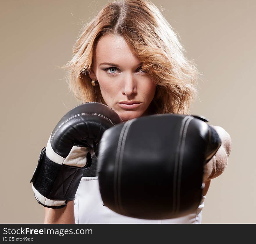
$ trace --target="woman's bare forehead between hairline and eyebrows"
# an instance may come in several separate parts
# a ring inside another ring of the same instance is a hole
[[[131,52],[128,44],[122,36],[111,34],[101,37],[95,47],[94,59],[97,63],[130,63],[139,62],[139,59]]]

